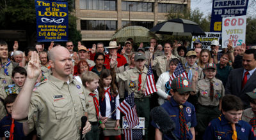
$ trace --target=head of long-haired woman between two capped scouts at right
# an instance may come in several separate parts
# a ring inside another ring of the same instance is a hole
[[[211,52],[207,49],[203,49],[199,55],[198,66],[200,66],[202,69],[204,69],[205,64],[212,63],[212,62],[213,62],[213,60],[211,57]]]

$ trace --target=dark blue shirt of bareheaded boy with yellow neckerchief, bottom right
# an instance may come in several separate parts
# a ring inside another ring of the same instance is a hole
[[[239,120],[236,123],[236,132],[237,139],[246,140],[246,139],[256,139],[253,134],[252,126]],[[232,140],[232,127],[224,115],[221,115],[219,118],[212,120],[209,123],[209,126],[206,128],[203,139],[231,139]]]

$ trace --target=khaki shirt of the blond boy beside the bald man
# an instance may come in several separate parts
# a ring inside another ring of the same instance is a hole
[[[97,115],[96,115],[96,109],[93,102],[93,97],[89,95],[90,92],[87,88],[85,88],[84,95],[85,95],[85,107],[88,113],[88,120],[90,122],[98,122]],[[93,94],[96,94],[97,99],[99,101],[99,94],[98,92],[93,92]],[[100,109],[99,109],[100,110]]]

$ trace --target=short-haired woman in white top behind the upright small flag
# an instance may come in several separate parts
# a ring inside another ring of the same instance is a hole
[[[171,99],[170,88],[171,85],[169,83],[170,76],[172,76],[173,71],[176,69],[179,64],[179,59],[172,59],[169,64],[170,71],[166,71],[162,73],[156,83],[157,94],[159,95],[158,104],[161,105],[165,100]]]

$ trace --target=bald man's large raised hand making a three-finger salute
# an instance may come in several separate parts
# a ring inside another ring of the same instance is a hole
[[[35,79],[38,78],[39,74],[41,73],[41,67],[40,67],[40,59],[38,56],[38,53],[32,52],[31,54],[31,60],[28,62],[28,68],[27,68],[27,78]]]

